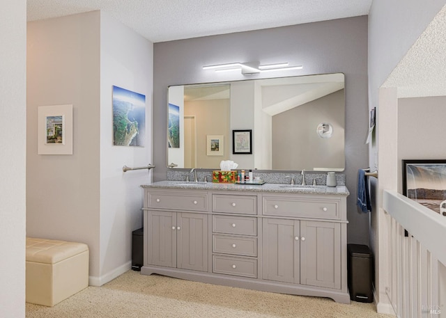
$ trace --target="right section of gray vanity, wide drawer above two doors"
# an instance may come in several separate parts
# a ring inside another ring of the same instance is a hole
[[[263,214],[283,217],[263,219],[263,279],[341,289],[342,202],[326,196],[263,196]]]

